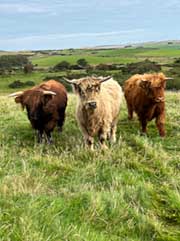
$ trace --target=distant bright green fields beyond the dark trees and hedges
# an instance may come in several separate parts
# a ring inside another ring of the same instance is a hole
[[[59,55],[58,55],[59,53]],[[41,67],[54,66],[63,60],[75,64],[80,58],[85,58],[89,64],[119,63],[126,64],[142,61],[145,58],[160,63],[172,62],[174,58],[180,57],[180,43],[168,44],[146,44],[119,49],[74,49],[57,51],[57,55],[34,55],[31,60],[33,64]]]

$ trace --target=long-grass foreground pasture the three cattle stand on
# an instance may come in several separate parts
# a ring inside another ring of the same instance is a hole
[[[69,95],[64,130],[38,145],[25,111],[0,96],[1,241],[180,240],[180,93],[166,93],[167,137],[148,137],[123,103],[107,151],[84,149]]]

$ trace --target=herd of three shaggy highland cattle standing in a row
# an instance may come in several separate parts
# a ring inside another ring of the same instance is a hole
[[[123,90],[128,118],[136,112],[142,133],[146,134],[147,122],[155,118],[161,137],[165,136],[165,96],[167,78],[163,73],[136,74],[125,81]],[[78,95],[76,117],[86,145],[93,150],[97,136],[102,148],[106,140],[116,141],[116,128],[123,99],[121,86],[111,77],[84,77],[65,79]],[[51,132],[57,126],[62,131],[67,106],[67,91],[55,80],[49,80],[29,90],[9,95],[26,108],[32,128],[37,130],[38,142],[43,136],[52,142]]]

